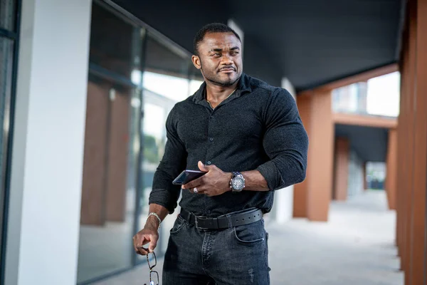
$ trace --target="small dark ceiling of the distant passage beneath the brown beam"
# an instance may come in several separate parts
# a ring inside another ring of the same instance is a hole
[[[348,138],[350,148],[366,162],[386,162],[389,130],[359,125],[335,125],[335,137]]]

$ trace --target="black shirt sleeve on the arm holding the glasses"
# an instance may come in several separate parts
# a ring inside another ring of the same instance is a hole
[[[166,122],[167,142],[164,148],[162,161],[154,173],[152,192],[149,195],[149,204],[159,204],[174,212],[181,192],[179,185],[172,181],[186,166],[186,149],[176,131],[176,112],[171,110]]]

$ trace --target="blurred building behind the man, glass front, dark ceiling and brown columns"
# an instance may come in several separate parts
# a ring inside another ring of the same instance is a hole
[[[406,284],[426,284],[426,0],[0,0],[0,284],[145,262],[132,236],[210,22],[241,35],[246,73],[292,93],[310,137],[307,179],[265,219],[327,222],[332,199],[384,191]]]

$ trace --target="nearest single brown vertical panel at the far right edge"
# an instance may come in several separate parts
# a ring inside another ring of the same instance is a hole
[[[416,7],[416,74],[414,81],[414,161],[408,284],[426,284],[426,173],[427,173],[427,1]]]

